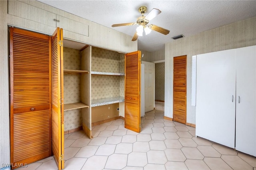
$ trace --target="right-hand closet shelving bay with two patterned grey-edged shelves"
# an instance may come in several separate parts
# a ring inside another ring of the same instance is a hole
[[[92,123],[124,116],[124,53],[92,47]]]

